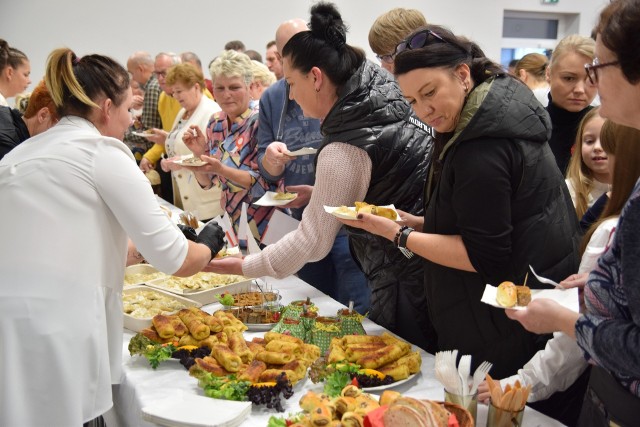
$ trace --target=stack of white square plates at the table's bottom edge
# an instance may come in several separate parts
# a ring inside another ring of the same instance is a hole
[[[251,402],[212,399],[181,390],[142,408],[146,421],[170,427],[235,427],[251,413]]]

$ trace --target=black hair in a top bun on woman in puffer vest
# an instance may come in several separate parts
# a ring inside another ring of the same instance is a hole
[[[339,91],[365,61],[364,51],[347,44],[347,26],[332,3],[311,7],[309,29],[291,37],[282,57],[301,73],[320,68]]]

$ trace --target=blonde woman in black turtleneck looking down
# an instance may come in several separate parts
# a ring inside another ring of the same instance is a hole
[[[547,71],[552,133],[549,146],[562,174],[567,173],[571,147],[578,126],[591,110],[596,87],[587,77],[584,64],[593,60],[595,42],[577,34],[565,37],[553,50]]]

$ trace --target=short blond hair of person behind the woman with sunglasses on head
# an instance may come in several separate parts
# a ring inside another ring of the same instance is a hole
[[[427,20],[419,10],[391,9],[373,22],[369,30],[369,46],[378,55],[392,54],[405,37],[426,25]]]

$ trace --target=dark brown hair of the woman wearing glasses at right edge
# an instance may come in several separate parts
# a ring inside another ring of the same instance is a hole
[[[640,81],[640,0],[612,0],[600,13],[594,32],[620,61],[631,84]]]

